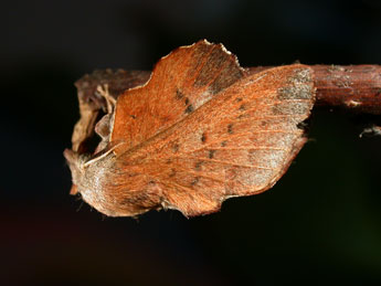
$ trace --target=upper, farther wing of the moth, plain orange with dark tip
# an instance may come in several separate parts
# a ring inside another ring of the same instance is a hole
[[[113,141],[123,152],[193,113],[242,78],[236,57],[221,45],[200,41],[179,47],[155,67],[148,84],[117,100]]]

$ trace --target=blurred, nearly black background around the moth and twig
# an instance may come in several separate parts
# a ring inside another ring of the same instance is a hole
[[[269,191],[187,220],[105,218],[68,195],[74,81],[222,42],[243,66],[381,62],[380,1],[8,1],[0,12],[0,284],[381,283],[381,139],[316,110]],[[82,206],[82,208],[81,208]]]

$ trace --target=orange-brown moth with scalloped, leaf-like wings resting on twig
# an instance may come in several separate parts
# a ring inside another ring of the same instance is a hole
[[[212,213],[261,193],[306,142],[315,102],[301,64],[250,74],[222,44],[199,41],[162,57],[147,83],[115,99],[96,124],[94,153],[66,149],[73,188],[110,216],[174,209]]]

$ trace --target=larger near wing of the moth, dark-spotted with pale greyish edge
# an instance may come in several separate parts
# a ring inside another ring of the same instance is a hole
[[[161,204],[187,216],[263,192],[306,141],[300,124],[315,100],[311,77],[299,64],[245,77],[119,161],[144,170]]]

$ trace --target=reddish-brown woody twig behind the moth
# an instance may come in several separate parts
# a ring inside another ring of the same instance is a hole
[[[248,74],[269,68],[257,66],[246,68]],[[311,65],[315,72],[316,105],[341,107],[359,113],[381,114],[381,66],[380,65]],[[110,94],[117,97],[125,89],[144,84],[149,72],[118,70],[96,71],[76,82],[82,102],[94,103],[94,108],[104,106],[96,94],[96,86],[108,84]]]

